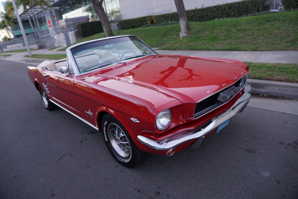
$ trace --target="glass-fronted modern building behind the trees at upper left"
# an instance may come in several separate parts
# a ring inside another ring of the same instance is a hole
[[[88,20],[97,20],[97,15],[94,10],[92,10],[92,5],[90,0],[51,0],[51,6],[46,7],[46,10],[43,10],[40,6],[35,7],[35,11],[37,13],[37,18],[39,22],[40,31],[53,32],[52,28],[56,31],[58,28],[58,32],[62,31],[63,28],[74,28],[74,25],[78,22],[78,18],[88,16]],[[108,15],[109,21],[117,22],[121,19],[120,15],[120,7],[118,0],[104,0],[104,8]],[[25,33],[33,33],[33,30],[30,26],[27,15],[24,13],[23,7],[18,8],[19,15],[22,19],[22,23],[25,29]],[[29,17],[31,19],[32,24],[34,21],[32,19],[32,14],[28,12]],[[33,13],[34,14],[34,13]],[[74,20],[64,20],[63,26],[60,27],[59,21],[62,19],[70,19],[74,18]],[[68,23],[65,23],[68,21]],[[70,22],[72,21],[72,22]],[[86,20],[79,20],[80,22]],[[66,25],[65,25],[66,24]],[[35,25],[34,25],[35,26]],[[61,29],[59,29],[59,27]],[[34,27],[36,31],[36,27]],[[19,25],[16,24],[16,27],[12,27],[12,31],[16,37],[21,35],[21,31]],[[57,31],[56,31],[57,33]]]

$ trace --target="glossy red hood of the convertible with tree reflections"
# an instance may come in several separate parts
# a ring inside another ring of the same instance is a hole
[[[245,66],[236,60],[156,55],[107,67],[93,75],[156,90],[183,103],[196,103],[244,76]]]

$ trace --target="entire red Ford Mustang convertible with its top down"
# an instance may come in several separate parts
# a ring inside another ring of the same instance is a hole
[[[250,99],[236,60],[159,55],[133,35],[69,47],[67,59],[28,67],[48,110],[57,106],[103,132],[125,167],[171,156],[218,133]]]

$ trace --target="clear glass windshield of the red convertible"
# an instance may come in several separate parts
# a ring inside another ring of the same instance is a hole
[[[156,55],[134,36],[111,38],[79,45],[71,49],[80,73],[86,73],[125,60]]]

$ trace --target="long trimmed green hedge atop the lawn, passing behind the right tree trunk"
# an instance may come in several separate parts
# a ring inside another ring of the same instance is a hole
[[[199,9],[186,10],[188,20],[194,22],[210,21],[217,18],[238,17],[264,11],[265,0],[243,0],[238,2],[214,5]],[[160,24],[169,21],[179,21],[178,13],[171,12],[154,16],[144,16],[118,21],[121,29],[131,29],[148,24]]]

